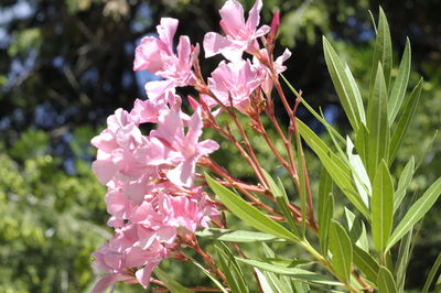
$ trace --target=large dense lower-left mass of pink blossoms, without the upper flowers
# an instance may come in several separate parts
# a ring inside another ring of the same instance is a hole
[[[95,292],[116,281],[147,286],[176,238],[207,227],[218,215],[194,185],[197,160],[218,148],[212,140],[198,141],[201,110],[185,121],[180,112],[163,108],[154,118],[157,129],[143,135],[139,126],[151,120],[148,106],[137,100],[130,112],[116,110],[107,129],[92,140],[98,148],[93,170],[108,187],[108,225],[115,228],[115,237],[94,253],[94,267],[108,273]]]

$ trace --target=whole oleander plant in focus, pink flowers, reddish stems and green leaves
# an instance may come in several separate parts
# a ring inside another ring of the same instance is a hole
[[[93,292],[117,282],[158,292],[404,292],[418,225],[441,194],[441,178],[421,194],[409,192],[423,156],[409,153],[392,175],[422,90],[422,79],[408,90],[409,40],[392,74],[379,9],[362,95],[323,37],[351,124],[340,133],[283,77],[291,53],[275,54],[280,17],[260,25],[261,9],[257,0],[245,19],[243,6],[227,0],[219,10],[223,34],[206,33],[202,46],[185,35],[175,44],[179,21],[163,18],[158,35],[136,48],[133,69],[160,78],[146,84],[148,99],[117,109],[92,140],[93,171],[107,186],[107,224],[115,229],[93,253],[101,274]],[[212,57],[220,62],[204,75],[201,64]],[[327,140],[298,118],[299,107],[323,124]],[[225,143],[252,176],[238,178],[216,162]],[[256,150],[263,146],[273,166],[262,164]],[[320,174],[311,174],[306,148]],[[209,281],[185,287],[161,269],[165,259],[190,263]],[[438,257],[421,292],[441,290],[440,265]]]

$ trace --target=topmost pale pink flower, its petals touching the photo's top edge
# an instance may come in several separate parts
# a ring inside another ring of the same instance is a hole
[[[220,26],[226,36],[209,32],[204,37],[205,57],[216,54],[223,54],[229,61],[239,59],[244,51],[258,50],[256,39],[267,34],[270,31],[268,25],[259,24],[259,13],[262,8],[261,0],[257,0],[245,22],[244,8],[237,0],[228,0],[219,10],[222,20]]]

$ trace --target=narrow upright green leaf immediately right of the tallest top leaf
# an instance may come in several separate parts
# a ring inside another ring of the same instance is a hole
[[[392,90],[390,93],[389,102],[387,108],[389,109],[389,124],[394,123],[394,120],[401,108],[401,104],[405,99],[407,85],[409,83],[410,74],[410,42],[406,40],[405,52],[402,53],[401,63],[398,69],[397,78],[395,79]]]

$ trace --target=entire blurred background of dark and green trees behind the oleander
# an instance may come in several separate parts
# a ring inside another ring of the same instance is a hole
[[[144,98],[143,84],[154,76],[133,73],[133,51],[142,36],[155,33],[160,18],[180,19],[178,34],[202,43],[205,32],[219,30],[217,9],[223,2],[1,1],[1,292],[78,292],[90,287],[89,254],[106,241],[110,230],[105,226],[105,188],[89,171],[94,158],[89,140],[116,108],[128,109],[136,98]],[[250,8],[254,0],[243,2]],[[441,2],[263,0],[263,4],[266,23],[276,10],[281,11],[279,50],[281,53],[282,46],[288,46],[293,53],[286,76],[341,129],[347,121],[325,68],[321,36],[325,34],[337,46],[359,86],[368,85],[375,36],[368,10],[376,14],[381,4],[389,19],[396,64],[408,35],[412,67],[426,80],[412,138],[398,155],[397,170],[409,153],[420,153],[423,165],[412,191],[432,182],[441,170],[441,160],[437,160],[441,158],[440,140],[423,154],[441,127]],[[217,61],[204,61],[203,70],[209,73]],[[415,76],[411,79],[416,83]],[[323,130],[304,109],[299,115],[318,132]],[[228,148],[223,145],[223,152],[230,153]],[[269,160],[268,150],[259,151],[262,160]],[[249,175],[241,162],[220,163],[238,176]],[[266,165],[272,163],[267,161]],[[313,173],[314,164],[311,167]],[[439,252],[440,215],[438,204],[417,238],[408,289],[421,287]],[[176,275],[185,272],[171,270]],[[194,273],[195,278],[201,275]]]

